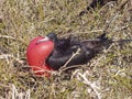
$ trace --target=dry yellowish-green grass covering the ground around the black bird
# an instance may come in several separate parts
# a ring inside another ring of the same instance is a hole
[[[73,33],[88,38],[107,29],[110,38],[132,38],[131,0],[108,3],[78,16],[87,3],[88,0],[0,1],[1,99],[132,99],[132,43],[112,44],[72,72],[70,79],[64,73],[38,78],[26,65],[31,38],[52,31],[59,36]]]

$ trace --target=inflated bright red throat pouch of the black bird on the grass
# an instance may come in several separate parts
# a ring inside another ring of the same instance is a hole
[[[53,70],[45,64],[45,59],[54,50],[52,41],[38,42],[44,37],[38,36],[33,38],[26,50],[26,61],[36,76],[51,77],[50,70]]]

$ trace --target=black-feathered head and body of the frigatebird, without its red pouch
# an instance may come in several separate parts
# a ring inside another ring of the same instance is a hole
[[[54,42],[55,47],[46,58],[53,69],[58,70],[79,50],[79,53],[66,66],[87,64],[92,57],[108,47],[112,42],[102,34],[95,40],[77,40],[74,37],[57,38],[55,33],[47,34],[47,40]]]

